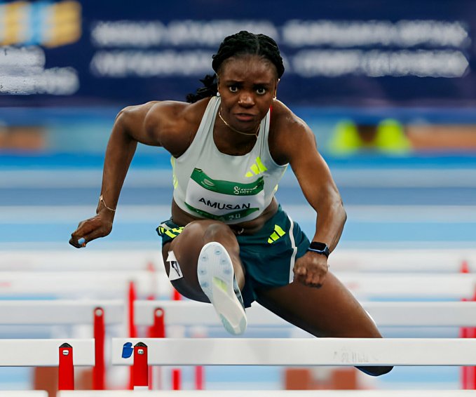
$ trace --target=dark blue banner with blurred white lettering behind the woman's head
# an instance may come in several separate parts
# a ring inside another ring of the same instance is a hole
[[[476,104],[472,0],[60,0],[0,3],[0,106],[184,100],[243,29],[278,42],[288,104]]]

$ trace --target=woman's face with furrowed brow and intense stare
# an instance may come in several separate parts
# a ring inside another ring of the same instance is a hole
[[[278,73],[259,55],[225,60],[218,73],[222,116],[233,128],[254,132],[276,96]]]

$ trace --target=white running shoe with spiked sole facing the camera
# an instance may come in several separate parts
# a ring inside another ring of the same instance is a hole
[[[197,274],[200,287],[215,307],[225,329],[233,335],[243,334],[247,325],[243,297],[231,258],[222,244],[213,241],[203,245]]]

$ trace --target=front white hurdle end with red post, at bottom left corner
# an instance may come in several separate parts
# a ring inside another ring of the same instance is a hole
[[[58,389],[74,389],[74,367],[95,364],[94,339],[0,339],[0,367],[58,367]]]

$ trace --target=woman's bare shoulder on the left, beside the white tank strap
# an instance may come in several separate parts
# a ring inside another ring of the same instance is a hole
[[[200,125],[208,100],[190,104],[179,101],[154,101],[126,107],[123,118],[144,144],[164,147],[179,156],[189,147]]]

